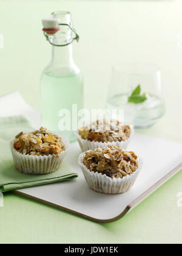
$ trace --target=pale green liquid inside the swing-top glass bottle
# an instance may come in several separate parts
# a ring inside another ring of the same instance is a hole
[[[59,130],[59,110],[70,111],[72,129],[72,104],[77,104],[78,111],[83,108],[83,78],[81,73],[70,76],[53,76],[45,72],[41,77],[41,123],[54,132],[61,132],[76,141],[73,130]]]

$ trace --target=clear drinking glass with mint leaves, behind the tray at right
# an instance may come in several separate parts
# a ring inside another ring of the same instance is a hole
[[[138,90],[133,93],[136,87]],[[124,122],[132,124],[135,129],[145,129],[155,124],[165,113],[160,68],[149,63],[113,66],[107,108],[123,109]]]

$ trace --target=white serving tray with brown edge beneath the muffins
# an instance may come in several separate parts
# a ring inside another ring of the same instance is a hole
[[[78,143],[71,144],[66,157],[73,171],[78,172],[77,179],[25,188],[15,193],[93,221],[115,221],[126,215],[182,168],[182,144],[135,134],[129,149],[141,155],[144,166],[134,187],[127,193],[106,195],[90,190],[78,166],[78,155],[81,152]]]

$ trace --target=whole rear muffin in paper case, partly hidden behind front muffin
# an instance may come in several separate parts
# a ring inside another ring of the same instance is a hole
[[[120,121],[115,120],[97,120],[75,132],[83,152],[93,148],[104,148],[111,144],[126,149],[133,134],[132,126],[123,126]]]

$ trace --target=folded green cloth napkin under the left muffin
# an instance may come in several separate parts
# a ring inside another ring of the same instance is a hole
[[[23,116],[0,118],[0,192],[34,187],[78,177],[66,162],[52,174],[32,176],[17,171],[10,151],[10,141],[19,132],[30,132],[33,128]]]

